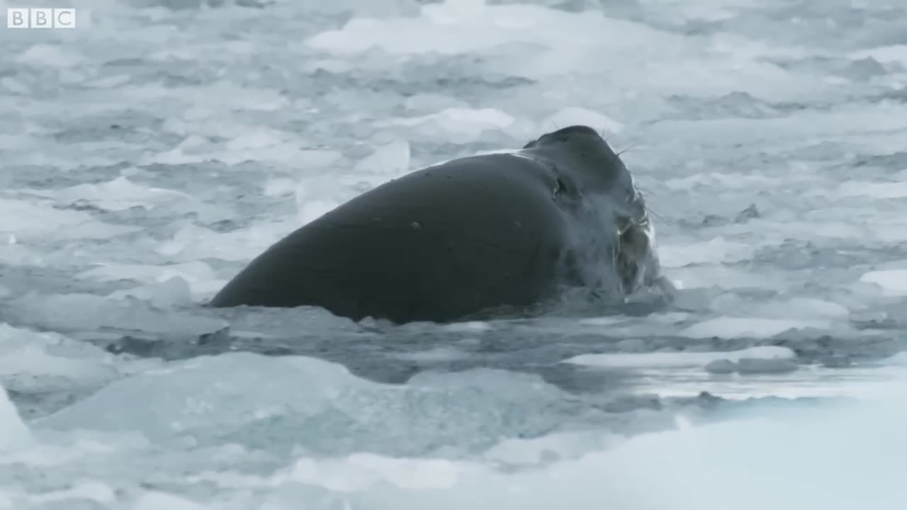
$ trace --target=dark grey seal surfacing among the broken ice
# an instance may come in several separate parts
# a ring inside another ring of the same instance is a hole
[[[657,277],[642,195],[599,133],[577,125],[366,191],[268,248],[210,306],[451,322],[566,289],[619,301]]]

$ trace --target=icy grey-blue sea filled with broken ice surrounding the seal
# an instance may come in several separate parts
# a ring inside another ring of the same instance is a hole
[[[72,5],[0,30],[0,508],[907,506],[902,1]],[[629,148],[669,309],[200,307],[571,123]]]

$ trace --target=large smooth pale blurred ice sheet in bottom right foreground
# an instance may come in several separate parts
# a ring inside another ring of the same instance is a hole
[[[427,473],[440,472],[438,481],[445,484],[418,485],[420,490],[405,482],[397,484],[400,475],[391,467],[393,461],[385,464],[393,476],[363,474],[360,465],[338,459],[317,463],[326,469],[308,469],[307,479],[324,486],[327,482],[319,475],[330,476],[336,484],[332,486],[342,486],[352,500],[351,508],[380,498],[386,508],[434,510],[543,510],[558,505],[850,510],[853,502],[873,510],[901,510],[907,500],[899,470],[907,455],[907,444],[901,439],[907,426],[902,408],[901,401],[892,398],[884,406],[824,407],[799,414],[769,409],[760,419],[707,427],[686,427],[687,420],[681,419],[677,430],[634,436],[535,469],[499,470],[466,461],[450,461],[452,466],[445,468],[421,459],[398,462],[412,466],[400,470],[404,473],[420,465]],[[848,439],[842,441],[843,437]],[[355,476],[355,482],[344,478],[345,472]],[[386,483],[370,483],[375,478]],[[640,483],[642,479],[647,483]],[[298,480],[286,483],[295,485]],[[287,497],[287,505],[293,503]]]

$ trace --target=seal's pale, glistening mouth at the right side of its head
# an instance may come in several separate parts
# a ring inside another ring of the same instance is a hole
[[[655,239],[655,229],[649,213],[645,207],[641,210],[637,216],[620,217],[615,232],[614,269],[620,277],[621,290],[625,295],[643,285]]]

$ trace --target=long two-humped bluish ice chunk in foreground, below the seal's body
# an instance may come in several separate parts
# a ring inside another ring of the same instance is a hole
[[[40,425],[134,431],[157,444],[192,436],[207,445],[278,450],[289,441],[320,452],[346,453],[351,444],[424,452],[547,433],[563,425],[552,405],[584,409],[593,419],[604,412],[564,401],[561,390],[538,376],[493,370],[420,376],[405,386],[385,385],[319,359],[229,353],[119,379]]]

